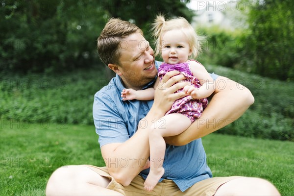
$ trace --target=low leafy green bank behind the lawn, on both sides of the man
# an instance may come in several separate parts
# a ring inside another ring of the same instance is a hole
[[[221,66],[209,72],[231,78],[249,88],[255,103],[236,122],[219,133],[294,141],[294,85]],[[106,67],[64,74],[0,74],[0,119],[27,123],[93,124],[94,94],[108,83]],[[229,100],[228,100],[229,104]]]

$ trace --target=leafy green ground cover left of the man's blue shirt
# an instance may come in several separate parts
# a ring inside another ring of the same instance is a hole
[[[20,122],[93,124],[94,94],[105,72],[75,70],[67,74],[28,74],[1,79],[1,119]]]

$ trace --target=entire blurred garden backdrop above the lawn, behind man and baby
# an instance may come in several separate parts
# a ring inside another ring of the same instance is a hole
[[[219,133],[293,141],[294,1],[203,2],[209,1],[2,0],[0,118],[92,124],[93,95],[113,76],[97,53],[105,23],[130,21],[153,41],[149,25],[162,13],[189,20],[203,49],[197,60],[255,97],[245,115]],[[205,11],[221,15],[206,22]],[[220,17],[230,24],[211,23]]]

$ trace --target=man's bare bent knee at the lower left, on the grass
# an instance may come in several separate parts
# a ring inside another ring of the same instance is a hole
[[[47,196],[122,196],[106,189],[110,180],[85,166],[65,166],[57,169],[49,178]]]

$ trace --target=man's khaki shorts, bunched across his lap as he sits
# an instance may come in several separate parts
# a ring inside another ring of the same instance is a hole
[[[140,175],[137,175],[129,186],[124,187],[109,175],[106,167],[96,167],[91,165],[84,166],[97,172],[99,175],[108,178],[110,183],[106,187],[107,189],[117,191],[125,196],[213,196],[221,185],[240,177],[230,176],[208,178],[197,182],[185,192],[181,192],[172,180],[164,179],[154,187],[153,191],[149,192],[144,189],[145,180]]]

